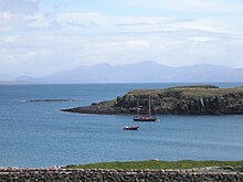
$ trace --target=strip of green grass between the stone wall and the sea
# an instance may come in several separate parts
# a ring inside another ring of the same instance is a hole
[[[243,161],[130,161],[130,162],[105,162],[81,165],[67,165],[68,169],[192,169],[204,167],[237,167],[243,165]]]

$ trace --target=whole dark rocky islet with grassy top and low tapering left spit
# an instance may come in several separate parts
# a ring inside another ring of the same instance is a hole
[[[62,109],[67,113],[97,115],[242,115],[243,86],[219,88],[214,85],[178,86],[163,89],[135,89],[114,100]]]

